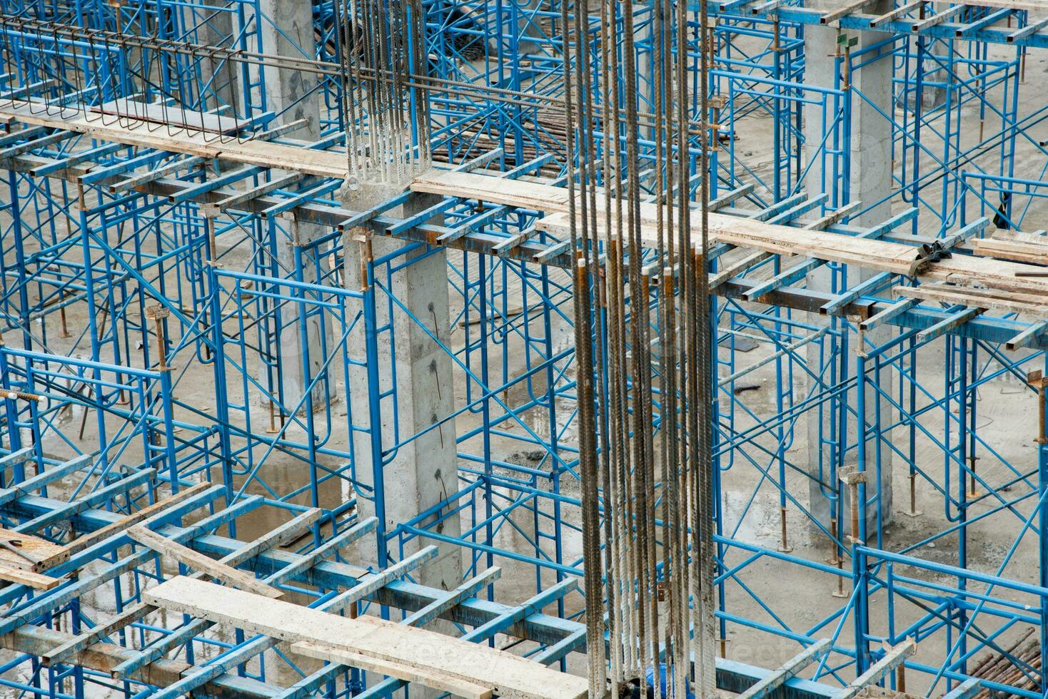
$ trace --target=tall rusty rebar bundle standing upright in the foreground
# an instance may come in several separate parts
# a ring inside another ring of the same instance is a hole
[[[708,129],[700,126],[697,134],[701,219],[693,235],[691,154],[696,144],[689,113],[686,7],[659,0],[653,9],[651,176],[658,245],[655,257],[645,260],[637,70],[632,58],[619,65],[612,48],[620,19],[623,55],[635,55],[633,4],[626,0],[620,7],[612,2],[601,7],[597,85],[590,71],[571,70],[572,63],[581,66],[588,60],[590,12],[581,3],[562,5],[565,112],[573,127],[568,129],[568,152],[575,154],[568,163],[568,188],[577,260],[574,311],[590,695],[604,695],[610,667],[616,694],[625,682],[639,683],[648,674],[656,684],[664,681],[668,695],[685,697],[695,686],[705,697],[716,686],[704,177]],[[706,25],[702,5],[700,125],[707,122]],[[597,133],[615,135],[599,149],[599,167]],[[597,186],[598,172],[603,187]],[[652,352],[653,324],[658,329],[657,356]],[[599,640],[606,631],[609,658]],[[665,680],[660,680],[663,673]]]

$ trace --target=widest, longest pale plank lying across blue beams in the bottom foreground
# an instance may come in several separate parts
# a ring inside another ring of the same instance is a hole
[[[158,607],[292,642],[315,641],[379,660],[489,684],[508,699],[582,699],[586,678],[460,638],[372,616],[347,618],[179,577],[144,592]]]

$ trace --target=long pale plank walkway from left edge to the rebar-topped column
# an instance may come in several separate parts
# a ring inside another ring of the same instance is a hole
[[[35,113],[35,111],[37,113]],[[345,179],[347,175],[346,156],[297,145],[284,145],[269,141],[253,140],[243,143],[236,139],[219,142],[214,135],[193,129],[156,129],[156,125],[141,119],[121,118],[115,123],[103,123],[101,116],[86,117],[73,109],[47,113],[42,103],[14,100],[0,108],[0,118],[14,117],[24,123],[65,129],[88,134],[114,143],[156,149],[170,153],[187,153],[203,158],[220,158],[231,162],[241,162],[263,167],[289,170],[321,177]]]

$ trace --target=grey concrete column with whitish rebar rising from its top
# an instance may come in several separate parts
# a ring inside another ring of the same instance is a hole
[[[363,211],[377,206],[400,194],[402,189],[388,185],[364,184],[358,189],[343,191],[343,205],[355,211]],[[390,211],[391,216],[408,217],[418,212],[439,201],[433,196],[415,196],[399,210]],[[345,284],[347,289],[363,288],[361,261],[362,243],[352,240],[350,235],[345,245]],[[379,257],[394,252],[405,244],[400,241],[383,236],[372,236],[371,254]],[[393,294],[411,312],[414,319],[402,309],[393,306],[392,317],[386,293],[376,290],[375,309],[376,325],[381,328],[392,323],[392,344],[388,335],[378,340],[378,386],[370,385],[366,366],[350,366],[348,382],[350,386],[350,406],[353,422],[356,425],[370,423],[370,397],[376,391],[388,391],[394,388],[395,380],[398,401],[398,422],[395,422],[392,399],[381,403],[381,420],[379,425],[371,428],[381,438],[384,450],[390,450],[395,444],[395,431],[399,431],[401,439],[439,423],[455,409],[455,388],[452,376],[452,359],[434,341],[449,342],[449,297],[447,297],[447,256],[440,251],[424,255],[424,250],[411,252],[407,257],[398,257],[397,265],[403,265],[408,260],[415,262],[393,273],[392,278],[379,277],[379,281],[388,285]],[[357,312],[363,313],[363,301],[351,299],[350,317]],[[421,323],[421,324],[420,324]],[[424,325],[424,329],[422,328]],[[349,340],[349,355],[354,361],[367,360],[365,329],[354,331]],[[396,371],[389,353],[393,352]],[[353,451],[356,461],[356,476],[363,482],[373,486],[372,435],[366,432],[352,433]],[[458,467],[456,456],[456,431],[454,421],[441,424],[421,436],[405,444],[397,449],[395,456],[383,469],[386,497],[385,525],[387,531],[393,529],[398,523],[415,518],[418,514],[435,506],[442,500],[458,492]],[[362,500],[359,505],[362,517],[374,514],[374,505]],[[435,520],[437,517],[434,516]],[[458,517],[452,517],[435,529],[450,537],[461,534]],[[454,588],[462,579],[462,550],[458,546],[441,544],[435,541],[412,541],[405,555],[410,555],[428,544],[440,547],[439,556],[416,574],[419,583],[442,589]],[[391,549],[392,556],[399,557],[398,550]],[[439,624],[439,623],[438,623]]]

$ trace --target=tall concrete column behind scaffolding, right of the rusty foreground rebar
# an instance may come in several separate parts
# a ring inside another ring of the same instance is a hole
[[[818,9],[833,9],[837,6],[837,3],[833,0],[817,0],[809,3],[809,6],[813,6]],[[872,7],[868,8],[867,12],[877,14],[889,12],[891,8],[891,0],[880,0]],[[856,32],[849,33],[854,35]],[[857,35],[858,44],[852,48],[852,51],[858,51],[864,47],[876,44],[885,37],[885,35],[875,31],[857,32]],[[805,50],[807,54],[805,61],[804,80],[806,85],[827,88],[834,87],[834,59],[832,57],[836,53],[836,28],[811,25],[805,27]],[[873,63],[866,63],[861,69],[855,71],[850,76],[853,88],[850,94],[845,96],[846,99],[851,99],[852,110],[852,133],[850,144],[852,154],[849,193],[850,201],[863,202],[864,208],[880,201],[881,199],[885,199],[892,191],[892,125],[881,114],[882,112],[888,116],[892,116],[894,113],[894,105],[892,102],[892,60],[888,55],[887,49],[881,50],[886,58]],[[870,103],[873,104],[871,105]],[[874,108],[873,105],[875,105],[876,108]],[[830,109],[832,110],[832,104]],[[807,191],[810,196],[814,197],[823,194],[824,188],[827,191],[831,191],[836,183],[831,180],[833,177],[832,170],[826,174],[827,178],[825,187],[823,183],[823,162],[822,153],[820,152],[820,146],[825,136],[823,131],[823,110],[817,105],[808,105],[805,107],[805,157],[808,162],[813,163],[807,176]],[[826,116],[828,117],[826,122],[832,122],[833,115],[829,114]],[[857,226],[872,226],[890,217],[891,204],[890,202],[883,202],[873,206],[861,216],[852,218],[850,223]],[[870,276],[873,276],[872,272],[864,271],[858,267],[848,268],[848,280],[850,285],[860,283]],[[808,274],[807,283],[808,288],[813,291],[829,292],[832,290],[830,273],[825,267]],[[828,319],[816,314],[811,314],[809,316],[809,322],[827,324]],[[886,335],[883,331],[875,331],[868,333],[868,337],[873,342],[878,342],[887,339],[888,335]],[[858,339],[853,336],[853,345],[857,342]],[[848,358],[850,367],[849,370],[854,371],[856,360],[853,354],[854,347],[851,347],[849,352],[852,353],[852,355]],[[808,345],[807,357],[812,370],[818,373],[820,347],[817,346],[817,343],[811,343]],[[829,374],[825,373],[823,376],[828,377]],[[893,377],[893,371],[889,371],[887,369],[881,370],[880,385],[885,390],[892,390],[894,386]],[[866,422],[868,425],[872,425],[874,423],[875,413],[878,408],[877,401],[879,400],[880,424],[890,425],[894,422],[894,411],[892,410],[888,400],[881,398],[875,386],[872,385],[872,375],[870,376],[870,385],[866,391]],[[854,408],[855,403],[854,397],[852,397],[852,400],[849,402],[850,407]],[[820,465],[822,465],[822,473],[825,477],[826,474],[829,473],[832,451],[829,446],[820,445],[818,443],[820,424],[817,412],[812,411],[810,415],[811,416],[808,421],[809,473],[812,473],[813,475],[818,474]],[[856,420],[854,416],[849,416],[848,422],[848,434],[845,439],[850,444],[854,444],[857,435]],[[822,427],[823,434],[828,436],[831,428],[829,410],[825,411]],[[876,456],[874,448],[875,441],[869,441],[866,445],[865,460],[866,468],[871,474],[875,468],[874,459]],[[867,484],[867,498],[873,497],[879,488],[882,502],[883,522],[885,524],[888,524],[892,521],[893,514],[892,452],[888,447],[883,447],[880,450],[880,483],[875,483],[871,475],[871,479],[868,480]],[[857,450],[852,449],[852,451],[849,452],[845,458],[844,468],[846,470],[854,469],[857,460]],[[827,482],[825,487],[827,490],[835,488],[842,494],[845,503],[845,521],[842,525],[842,531],[845,534],[848,534],[848,520],[851,517],[851,510],[848,502],[847,488],[843,487],[839,481],[837,483]],[[832,514],[830,501],[823,495],[821,483],[816,478],[812,478],[809,481],[809,506],[811,514],[824,526],[829,528],[830,517]],[[870,536],[873,536],[875,532],[875,509],[871,508],[868,511],[867,516],[867,532]]]

